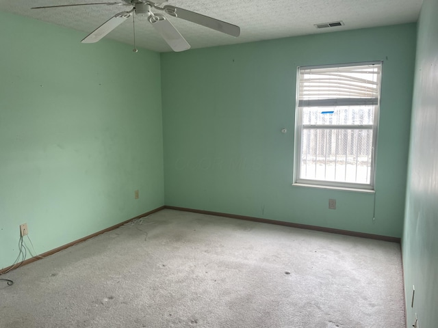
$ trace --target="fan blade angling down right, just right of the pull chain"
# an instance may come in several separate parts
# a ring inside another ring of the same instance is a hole
[[[154,14],[149,16],[149,23],[155,28],[155,30],[164,38],[164,41],[172,48],[173,51],[185,51],[190,49],[190,44],[185,41],[185,38],[181,36],[181,33],[170,21],[160,14]]]

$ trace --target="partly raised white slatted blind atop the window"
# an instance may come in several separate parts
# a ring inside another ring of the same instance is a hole
[[[378,105],[381,64],[300,68],[299,107]]]

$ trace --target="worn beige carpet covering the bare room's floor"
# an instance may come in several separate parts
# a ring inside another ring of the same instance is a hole
[[[2,277],[2,328],[404,327],[400,245],[175,210]]]

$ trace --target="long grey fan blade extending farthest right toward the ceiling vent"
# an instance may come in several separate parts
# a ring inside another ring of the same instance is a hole
[[[190,10],[177,8],[173,5],[165,5],[163,9],[164,12],[166,12],[166,14],[169,14],[170,16],[182,18],[192,23],[208,27],[209,29],[216,29],[216,31],[227,33],[230,36],[240,36],[240,27],[227,22],[223,22],[222,20],[201,15],[196,12],[191,12]]]

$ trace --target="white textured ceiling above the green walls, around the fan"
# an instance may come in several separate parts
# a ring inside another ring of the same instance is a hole
[[[31,10],[31,7],[71,3],[117,2],[121,0],[0,0],[0,10],[83,31],[83,36],[118,12],[130,8],[119,5],[86,5],[67,8]],[[200,14],[239,25],[238,38],[228,36],[179,18],[169,20],[177,27],[192,49],[222,44],[285,38],[383,25],[415,22],[422,0],[169,0],[175,5]],[[313,24],[343,20],[345,25],[316,29]],[[105,38],[133,43],[132,19],[118,26]],[[78,40],[80,42],[80,40]],[[170,51],[145,18],[136,18],[137,46],[153,51]]]

